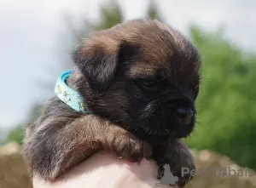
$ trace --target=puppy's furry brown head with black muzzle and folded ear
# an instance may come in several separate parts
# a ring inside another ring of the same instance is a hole
[[[90,111],[145,134],[188,136],[201,65],[196,48],[157,20],[130,20],[84,39],[73,54]]]

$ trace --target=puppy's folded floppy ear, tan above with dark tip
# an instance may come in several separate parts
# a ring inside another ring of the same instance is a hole
[[[103,92],[117,77],[119,67],[124,66],[137,53],[138,48],[129,43],[86,39],[74,52],[73,59],[90,88]]]

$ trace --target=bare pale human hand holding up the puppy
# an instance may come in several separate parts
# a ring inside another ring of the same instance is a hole
[[[54,182],[33,178],[34,188],[177,188],[160,185],[156,179],[156,162],[143,159],[140,164],[100,151],[93,157],[70,169]]]

